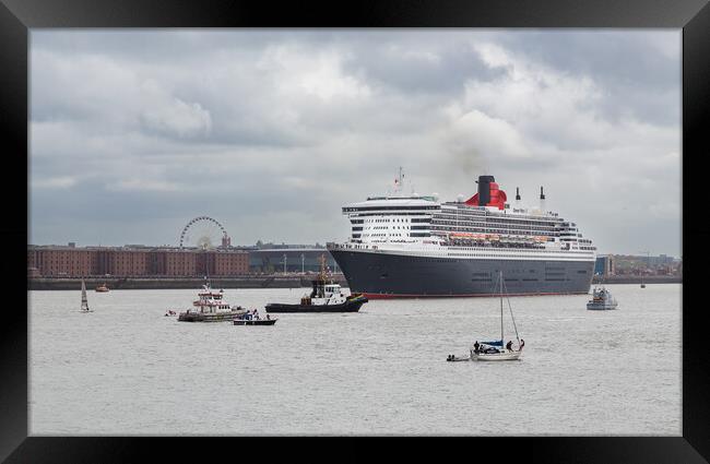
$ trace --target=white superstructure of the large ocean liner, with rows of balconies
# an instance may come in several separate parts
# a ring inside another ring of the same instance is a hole
[[[431,197],[370,198],[343,207],[352,250],[449,257],[593,260],[596,248],[577,224],[529,209],[439,203]],[[478,254],[473,253],[476,251]]]

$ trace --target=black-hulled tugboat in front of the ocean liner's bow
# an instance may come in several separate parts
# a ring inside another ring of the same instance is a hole
[[[363,294],[346,296],[326,273],[326,257],[320,257],[320,273],[312,281],[310,295],[304,295],[298,305],[270,302],[267,312],[357,312],[367,302]]]

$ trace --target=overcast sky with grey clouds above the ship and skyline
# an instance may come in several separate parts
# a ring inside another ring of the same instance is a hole
[[[509,198],[681,255],[681,29],[34,29],[32,243],[345,239],[347,202]]]

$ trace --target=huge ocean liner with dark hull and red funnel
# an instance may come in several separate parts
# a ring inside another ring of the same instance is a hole
[[[343,206],[350,239],[328,243],[351,292],[368,298],[495,294],[502,272],[509,295],[589,293],[596,248],[577,225],[540,206],[507,202],[493,176],[469,200],[401,192]],[[399,186],[402,185],[400,171]]]

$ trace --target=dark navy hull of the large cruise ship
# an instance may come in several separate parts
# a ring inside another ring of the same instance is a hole
[[[588,294],[593,261],[472,260],[330,250],[352,292],[368,298]]]

